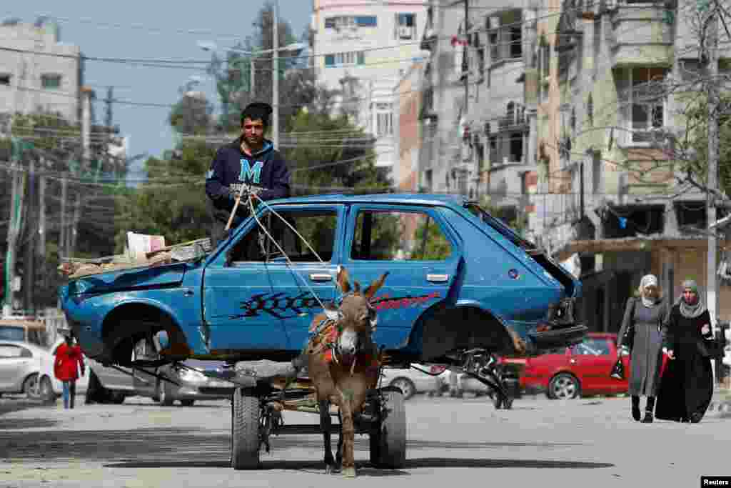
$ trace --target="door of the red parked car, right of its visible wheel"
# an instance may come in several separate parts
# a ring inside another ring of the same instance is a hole
[[[569,364],[581,382],[582,391],[607,391],[610,386],[609,373],[616,357],[612,356],[606,337],[586,337],[569,348]]]

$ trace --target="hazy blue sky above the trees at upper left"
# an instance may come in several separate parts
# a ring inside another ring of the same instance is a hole
[[[85,56],[207,61],[211,53],[199,48],[197,42],[213,41],[223,50],[232,48],[238,40],[245,40],[254,34],[251,23],[265,0],[187,3],[15,1],[0,7],[0,19],[15,17],[24,23],[34,23],[40,15],[53,17],[60,27],[61,42],[78,45]],[[279,0],[279,17],[289,22],[296,37],[309,25],[311,12],[311,0]],[[114,86],[114,98],[118,100],[172,105],[180,97],[178,89],[194,75],[208,76],[202,70],[87,61],[85,81],[96,91],[96,122],[103,123],[106,104],[102,100],[107,97],[107,86]],[[203,78],[195,89],[205,91],[219,113],[213,80]],[[121,135],[129,138],[128,157],[143,153],[161,157],[163,151],[173,149],[173,130],[167,124],[169,114],[170,108],[113,105],[113,123],[119,126]],[[132,165],[130,179],[143,177],[140,171],[144,159]]]

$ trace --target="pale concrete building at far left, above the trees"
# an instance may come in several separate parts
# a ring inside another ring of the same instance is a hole
[[[80,121],[83,66],[80,48],[60,42],[56,23],[5,20],[0,24],[0,113],[61,113]],[[7,130],[7,116],[0,132]]]

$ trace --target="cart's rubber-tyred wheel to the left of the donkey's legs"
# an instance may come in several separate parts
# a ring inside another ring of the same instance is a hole
[[[248,388],[235,388],[231,406],[231,467],[259,468],[259,397]]]

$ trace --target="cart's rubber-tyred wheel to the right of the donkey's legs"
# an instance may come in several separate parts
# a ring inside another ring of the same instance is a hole
[[[406,409],[401,391],[383,391],[376,404],[379,418],[370,435],[371,465],[376,468],[403,468],[406,464]]]

